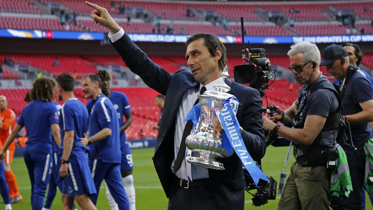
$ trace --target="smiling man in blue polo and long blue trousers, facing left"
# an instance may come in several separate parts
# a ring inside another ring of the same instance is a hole
[[[82,78],[85,98],[92,100],[89,135],[81,139],[90,145],[90,169],[97,194],[91,196],[95,204],[103,179],[120,210],[129,210],[129,201],[120,177],[119,121],[113,103],[101,93],[101,79],[96,74]]]

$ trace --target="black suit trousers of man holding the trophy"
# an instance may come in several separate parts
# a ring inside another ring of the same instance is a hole
[[[208,179],[207,179],[208,180]],[[170,191],[168,210],[215,210],[216,201],[211,183],[195,180],[198,186],[189,185],[189,189],[180,186],[180,179],[175,179]],[[193,182],[190,182],[193,183]]]

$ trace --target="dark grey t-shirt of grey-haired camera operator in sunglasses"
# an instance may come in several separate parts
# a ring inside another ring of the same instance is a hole
[[[304,85],[300,94],[303,96],[314,85],[321,82],[329,82],[325,76],[318,78],[310,87]],[[320,115],[328,117],[338,108],[338,98],[334,92],[328,89],[316,89],[307,98],[300,117],[308,115]],[[333,146],[333,139],[336,139],[338,130],[327,130],[320,133],[320,143],[323,146]]]

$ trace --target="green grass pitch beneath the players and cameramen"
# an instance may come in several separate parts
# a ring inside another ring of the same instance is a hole
[[[263,171],[267,176],[273,176],[277,181],[280,176],[280,169],[283,169],[287,147],[267,148],[265,157],[262,160]],[[154,154],[154,148],[147,149],[132,149],[134,159],[134,184],[136,189],[136,207],[138,210],[165,210],[167,209],[167,198],[164,195],[160,185],[158,176],[153,166],[151,157]],[[294,162],[294,157],[289,160],[289,165]],[[23,201],[13,204],[13,210],[31,209],[30,202],[30,180],[27,169],[22,157],[14,158],[12,170],[16,175],[19,191],[23,196]],[[289,168],[290,170],[290,168]],[[56,198],[53,201],[51,209],[62,209],[60,192],[57,190]],[[279,201],[280,195],[277,195],[276,200],[270,200],[267,204],[261,207],[252,206],[252,196],[245,192],[245,209],[260,209],[273,210]],[[0,204],[0,210],[4,209],[4,204]],[[78,209],[80,209],[78,207]],[[109,210],[109,204],[106,200],[104,185],[101,186],[100,194],[97,201],[98,210]],[[372,210],[372,204],[369,199],[367,202],[367,210]]]

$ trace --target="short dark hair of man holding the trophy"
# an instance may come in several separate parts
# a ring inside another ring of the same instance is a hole
[[[193,34],[191,37],[186,39],[185,45],[188,46],[195,40],[203,39],[204,45],[209,49],[212,57],[216,56],[216,47],[222,50],[222,57],[219,60],[219,68],[223,71],[223,68],[227,65],[227,49],[220,39],[214,34]]]

